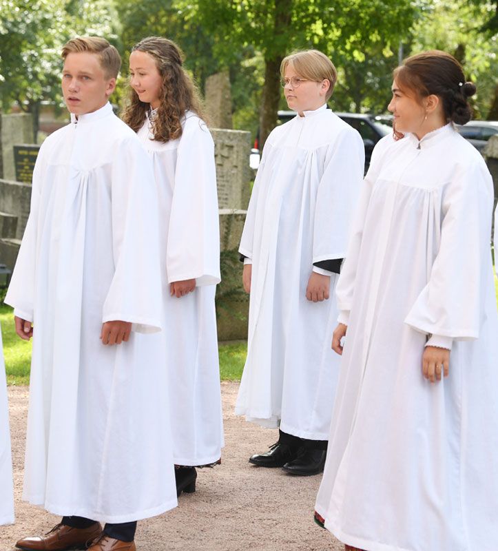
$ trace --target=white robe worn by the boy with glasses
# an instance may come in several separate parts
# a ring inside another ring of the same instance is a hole
[[[264,145],[240,253],[252,262],[247,361],[236,413],[326,440],[338,377],[329,300],[306,298],[313,263],[344,258],[362,185],[360,134],[326,105],[276,127]]]

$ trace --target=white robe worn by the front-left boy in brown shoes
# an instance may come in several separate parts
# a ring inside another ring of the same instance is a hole
[[[161,324],[156,202],[109,103],[41,146],[6,302],[34,322],[23,497],[55,514],[121,523],[176,505],[163,360],[141,334]],[[101,344],[111,320],[132,322],[129,342]]]

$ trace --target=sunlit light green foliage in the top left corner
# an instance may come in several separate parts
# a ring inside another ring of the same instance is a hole
[[[42,100],[59,103],[61,48],[93,34],[118,43],[112,1],[0,0],[0,97],[37,114]]]

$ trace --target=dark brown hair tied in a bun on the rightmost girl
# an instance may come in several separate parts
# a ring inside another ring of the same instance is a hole
[[[472,118],[468,98],[475,94],[476,87],[465,81],[464,71],[452,55],[441,50],[415,54],[396,67],[393,78],[400,90],[413,92],[420,100],[432,94],[438,96],[448,123],[464,125]]]

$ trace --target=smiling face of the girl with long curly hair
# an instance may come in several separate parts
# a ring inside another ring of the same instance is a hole
[[[129,84],[138,94],[140,101],[149,103],[152,109],[157,109],[160,105],[162,82],[156,60],[145,52],[132,52],[129,56]]]

